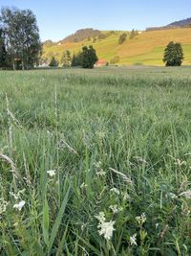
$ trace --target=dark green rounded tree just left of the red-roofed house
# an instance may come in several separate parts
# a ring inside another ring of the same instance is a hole
[[[96,56],[96,50],[92,45],[89,47],[84,46],[82,48],[82,53],[80,54],[81,65],[83,68],[94,68],[96,61],[98,60]]]

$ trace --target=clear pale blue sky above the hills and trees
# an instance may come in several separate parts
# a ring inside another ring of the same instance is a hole
[[[0,0],[0,7],[31,9],[42,41],[85,28],[144,30],[191,16],[191,0]]]

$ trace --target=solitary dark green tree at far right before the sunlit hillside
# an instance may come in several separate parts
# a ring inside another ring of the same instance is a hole
[[[169,42],[164,50],[163,62],[166,66],[180,66],[183,60],[183,50],[179,42]]]

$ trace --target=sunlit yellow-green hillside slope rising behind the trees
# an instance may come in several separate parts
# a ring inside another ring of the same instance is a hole
[[[63,51],[70,50],[77,53],[83,45],[92,44],[96,48],[98,58],[110,61],[115,56],[119,57],[118,64],[145,64],[163,65],[162,57],[165,46],[169,41],[179,41],[184,50],[184,65],[191,65],[191,28],[169,29],[161,31],[142,32],[133,39],[118,45],[118,36],[124,32],[102,32],[106,38],[85,39],[80,42],[59,42],[45,44],[43,47],[43,58],[52,56],[59,60]],[[128,35],[129,33],[126,32]]]

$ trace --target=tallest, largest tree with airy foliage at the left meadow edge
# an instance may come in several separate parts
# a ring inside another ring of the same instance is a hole
[[[17,60],[22,69],[29,69],[38,64],[41,43],[36,18],[31,10],[3,8],[0,25],[5,31],[7,52],[15,69]]]

